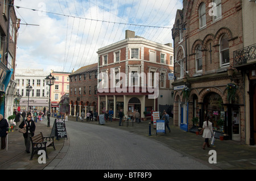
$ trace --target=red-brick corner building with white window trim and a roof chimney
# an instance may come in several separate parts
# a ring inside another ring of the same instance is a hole
[[[126,31],[125,40],[98,49],[98,112],[120,110],[126,116],[138,110],[141,117],[159,111],[159,105],[172,106],[173,49],[135,32]],[[167,106],[167,107],[168,107]]]

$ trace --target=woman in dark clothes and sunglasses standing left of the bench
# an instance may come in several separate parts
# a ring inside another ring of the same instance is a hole
[[[27,115],[27,119],[25,121],[22,121],[20,123],[19,128],[26,128],[26,133],[23,133],[26,151],[27,153],[30,153],[30,137],[33,137],[35,134],[35,123],[31,119],[31,115]]]

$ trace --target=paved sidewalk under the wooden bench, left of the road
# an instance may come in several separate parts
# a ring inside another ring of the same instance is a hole
[[[51,117],[51,127],[47,127],[47,119],[44,119],[41,123],[35,123],[36,130],[35,135],[40,132],[43,136],[50,136],[52,131],[52,125],[54,123],[54,118]],[[20,124],[21,122],[19,122]],[[18,128],[17,128],[18,129]],[[42,170],[59,154],[60,150],[63,148],[64,139],[54,140],[55,148],[52,146],[47,148],[48,159],[46,159],[46,164],[39,164],[38,158],[40,155],[34,154],[32,160],[30,160],[31,153],[26,153],[24,137],[22,133],[15,131],[9,132],[8,134],[8,149],[0,150],[0,169],[1,170]]]

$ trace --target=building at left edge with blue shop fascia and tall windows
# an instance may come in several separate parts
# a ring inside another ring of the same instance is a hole
[[[14,81],[17,33],[20,19],[16,17],[14,1],[0,4],[0,113],[4,117],[13,115],[13,102],[16,88]]]

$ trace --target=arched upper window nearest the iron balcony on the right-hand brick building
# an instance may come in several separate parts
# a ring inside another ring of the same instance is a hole
[[[220,61],[221,66],[229,65],[229,37],[224,34],[220,40]]]

